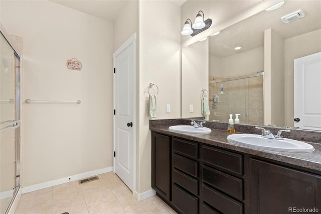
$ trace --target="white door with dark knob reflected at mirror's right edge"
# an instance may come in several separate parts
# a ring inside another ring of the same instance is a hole
[[[321,130],[321,52],[294,59],[294,126]]]

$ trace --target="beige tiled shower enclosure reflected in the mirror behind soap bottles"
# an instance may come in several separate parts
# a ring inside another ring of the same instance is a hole
[[[210,121],[227,123],[229,114],[240,114],[242,124],[264,125],[264,72],[209,82]]]

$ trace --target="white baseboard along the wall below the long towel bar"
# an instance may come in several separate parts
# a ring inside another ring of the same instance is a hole
[[[22,193],[24,194],[24,193],[36,191],[36,190],[39,190],[39,189],[44,189],[44,188],[47,188],[47,187],[52,187],[52,186],[56,186],[56,185],[59,185],[59,184],[68,183],[68,182],[75,181],[75,180],[80,180],[80,179],[83,179],[83,178],[87,178],[87,177],[103,174],[103,173],[106,173],[106,172],[111,172],[112,170],[113,170],[113,167],[111,166],[111,167],[107,167],[107,168],[104,168],[104,169],[98,169],[98,170],[85,172],[85,173],[78,174],[78,175],[72,175],[72,176],[60,178],[60,179],[57,179],[57,180],[52,180],[52,181],[47,181],[47,182],[44,182],[44,183],[39,183],[39,184],[31,185],[31,186],[22,187]]]

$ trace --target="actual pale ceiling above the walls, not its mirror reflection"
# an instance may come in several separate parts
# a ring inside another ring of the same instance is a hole
[[[103,20],[114,22],[122,8],[134,0],[49,0],[67,8],[89,14]],[[152,1],[152,0],[148,0]],[[187,0],[171,0],[181,6]]]

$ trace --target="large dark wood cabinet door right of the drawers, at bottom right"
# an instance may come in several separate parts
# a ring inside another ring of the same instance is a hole
[[[253,214],[321,210],[321,176],[251,159],[250,200]]]

